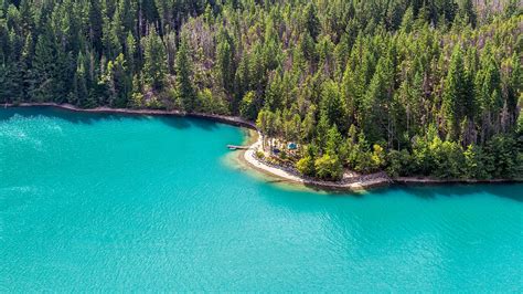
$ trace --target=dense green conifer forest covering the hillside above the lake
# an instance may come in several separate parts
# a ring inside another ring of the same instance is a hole
[[[339,179],[522,178],[520,0],[0,0],[0,102],[238,115]]]

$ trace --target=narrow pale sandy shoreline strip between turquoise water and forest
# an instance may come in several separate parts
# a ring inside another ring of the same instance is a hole
[[[179,116],[179,117],[196,117],[210,119],[218,123],[224,123],[233,126],[245,127],[252,132],[256,132],[256,137],[247,134],[246,144],[248,149],[239,150],[238,159],[241,165],[263,174],[265,176],[276,177],[282,181],[312,187],[319,189],[328,189],[335,191],[361,192],[369,189],[382,188],[386,186],[406,185],[406,186],[425,186],[425,185],[451,185],[451,183],[508,183],[508,182],[523,182],[523,179],[492,179],[492,180],[474,180],[474,179],[434,179],[428,177],[398,177],[389,178],[386,174],[374,174],[355,177],[349,182],[333,182],[322,181],[316,179],[305,178],[295,172],[289,172],[282,167],[275,167],[267,165],[255,156],[255,151],[262,145],[262,135],[257,130],[254,123],[243,119],[237,116],[215,115],[204,113],[184,113],[180,111],[163,111],[163,109],[131,109],[131,108],[111,108],[100,106],[96,108],[78,108],[71,104],[56,103],[21,103],[21,104],[3,104],[3,108],[8,107],[55,107],[71,112],[78,113],[99,113],[99,114],[127,114],[127,115],[157,115],[157,116]]]

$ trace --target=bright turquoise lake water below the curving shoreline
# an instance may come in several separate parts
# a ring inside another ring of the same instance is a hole
[[[0,292],[523,291],[523,185],[297,190],[242,129],[0,109]]]

